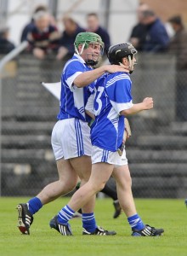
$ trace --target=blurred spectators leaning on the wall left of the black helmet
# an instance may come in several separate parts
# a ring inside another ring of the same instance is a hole
[[[61,19],[64,31],[59,32],[54,16],[50,15],[48,9],[41,5],[35,9],[31,21],[21,32],[20,42],[28,41],[27,52],[31,52],[38,59],[43,59],[45,55],[53,53],[57,60],[62,60],[65,56],[70,57],[74,54],[74,41],[77,33],[87,31],[98,33],[107,50],[111,45],[111,39],[105,28],[99,25],[99,16],[95,13],[89,13],[86,20],[87,27],[83,28],[71,16],[65,15]],[[3,38],[1,34],[0,38]],[[8,41],[8,34],[6,35],[6,44],[11,44],[14,47],[14,44]],[[0,54],[7,54],[11,48],[7,46],[6,49],[1,50],[2,45],[0,42]]]

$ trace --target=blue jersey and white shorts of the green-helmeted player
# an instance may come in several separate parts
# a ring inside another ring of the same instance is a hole
[[[67,61],[63,69],[59,121],[54,125],[51,139],[56,160],[91,155],[92,145],[88,126],[90,117],[85,113],[85,105],[94,83],[77,88],[73,82],[78,75],[92,69],[77,54]]]

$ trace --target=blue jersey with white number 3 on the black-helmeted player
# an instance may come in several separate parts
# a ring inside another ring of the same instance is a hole
[[[101,77],[95,85],[94,115],[91,140],[94,146],[115,152],[122,144],[124,116],[120,112],[132,108],[131,79],[127,73]]]

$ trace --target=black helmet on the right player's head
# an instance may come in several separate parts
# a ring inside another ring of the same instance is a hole
[[[124,43],[124,44],[115,44],[111,45],[107,52],[107,56],[111,64],[119,65],[122,62],[122,58],[130,57],[133,59],[133,55],[135,55],[138,51],[133,47],[133,44]]]

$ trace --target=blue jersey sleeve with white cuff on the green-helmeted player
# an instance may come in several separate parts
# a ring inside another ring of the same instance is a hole
[[[73,90],[74,80],[84,71],[85,67],[82,62],[77,60],[71,60],[70,62],[67,62],[63,70],[63,75],[66,84],[68,84],[68,86],[70,87],[70,90]]]

